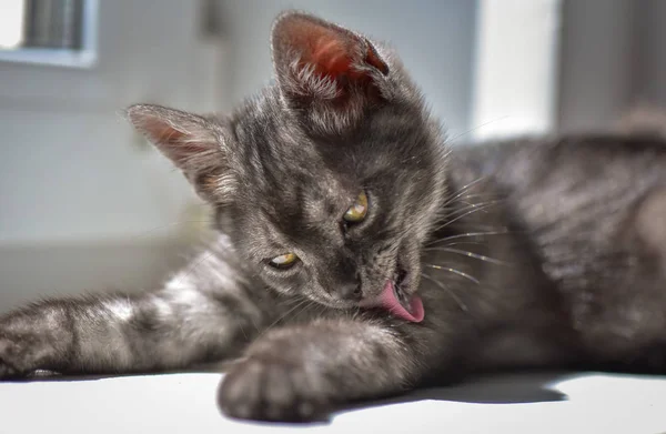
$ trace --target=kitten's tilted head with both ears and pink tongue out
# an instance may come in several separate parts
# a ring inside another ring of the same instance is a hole
[[[269,286],[420,321],[446,161],[421,94],[391,50],[312,16],[279,17],[272,49],[276,84],[230,117],[143,104],[128,117]]]

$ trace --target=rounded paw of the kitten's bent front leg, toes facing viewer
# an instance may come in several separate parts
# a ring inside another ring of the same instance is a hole
[[[253,355],[230,370],[220,385],[218,402],[230,417],[312,422],[331,410],[327,387],[325,379],[300,363]]]

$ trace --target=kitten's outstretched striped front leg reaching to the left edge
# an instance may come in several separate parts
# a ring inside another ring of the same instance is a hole
[[[0,317],[0,377],[182,369],[239,354],[264,320],[241,286],[178,279],[152,293],[44,301]]]

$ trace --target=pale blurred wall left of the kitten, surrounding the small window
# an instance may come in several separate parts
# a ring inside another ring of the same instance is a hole
[[[0,312],[39,296],[152,287],[183,262],[199,203],[118,111],[221,104],[223,46],[199,1],[99,2],[98,64],[0,61]]]

